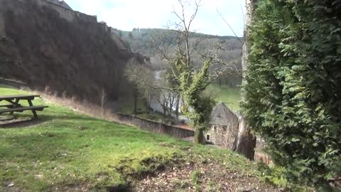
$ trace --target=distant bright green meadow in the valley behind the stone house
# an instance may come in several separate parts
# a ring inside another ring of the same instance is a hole
[[[230,88],[225,85],[211,85],[211,88],[217,92],[217,102],[224,102],[232,111],[239,110],[240,88]]]

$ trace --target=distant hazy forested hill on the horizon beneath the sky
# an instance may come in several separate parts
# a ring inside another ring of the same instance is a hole
[[[131,50],[135,53],[141,53],[151,58],[151,63],[154,67],[158,67],[157,63],[161,63],[156,55],[155,45],[167,43],[171,47],[170,50],[175,49],[176,39],[173,38],[174,31],[160,28],[134,28],[133,31],[120,31],[113,29],[121,39],[130,46]],[[202,33],[192,33],[191,40],[205,39],[203,46],[200,47],[202,51],[212,43],[222,43],[224,53],[222,57],[226,60],[241,58],[242,56],[242,43],[234,36],[212,36]],[[242,38],[239,38],[242,40]],[[156,66],[155,66],[156,65]]]

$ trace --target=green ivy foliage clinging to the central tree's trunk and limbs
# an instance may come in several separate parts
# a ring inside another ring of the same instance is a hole
[[[210,114],[215,105],[215,100],[204,94],[212,81],[209,72],[212,58],[205,60],[202,67],[194,72],[192,63],[188,62],[185,55],[181,53],[178,55],[169,61],[172,73],[166,74],[167,80],[183,97],[183,112],[193,122],[195,142],[204,144],[203,132],[209,127]]]

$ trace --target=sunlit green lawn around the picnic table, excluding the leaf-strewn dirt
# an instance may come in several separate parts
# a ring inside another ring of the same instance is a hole
[[[0,86],[0,95],[28,93]],[[33,103],[45,104],[41,99]],[[126,185],[163,166],[188,161],[189,149],[198,161],[217,158],[227,169],[256,173],[250,168],[254,164],[227,150],[88,117],[53,103],[47,105],[50,107],[38,112],[41,124],[0,128],[0,191],[9,191],[9,183],[16,191],[50,191],[65,186],[98,191]]]

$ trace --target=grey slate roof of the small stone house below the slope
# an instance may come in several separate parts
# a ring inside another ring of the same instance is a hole
[[[220,102],[212,110],[210,124],[224,126],[232,118],[236,118],[238,120],[237,114],[234,114],[234,112],[229,110],[229,107],[227,107],[223,102]]]

